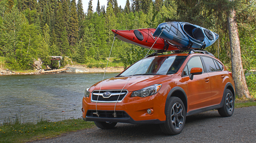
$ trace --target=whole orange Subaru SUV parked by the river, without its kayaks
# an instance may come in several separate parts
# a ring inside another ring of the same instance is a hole
[[[87,88],[82,114],[102,129],[117,122],[154,123],[165,134],[176,135],[186,116],[213,109],[232,116],[234,95],[232,73],[211,53],[154,53]]]

